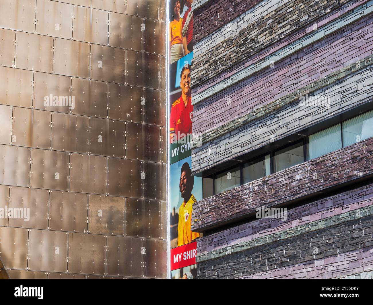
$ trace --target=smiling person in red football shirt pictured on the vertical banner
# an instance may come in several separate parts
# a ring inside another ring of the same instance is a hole
[[[186,64],[180,74],[181,96],[171,106],[170,143],[192,133],[193,105],[190,89],[190,64]]]

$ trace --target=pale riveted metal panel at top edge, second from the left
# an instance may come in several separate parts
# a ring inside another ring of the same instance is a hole
[[[37,0],[36,33],[59,38],[72,38],[71,4]]]

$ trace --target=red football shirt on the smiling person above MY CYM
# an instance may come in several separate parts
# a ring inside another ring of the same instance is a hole
[[[192,133],[193,105],[192,98],[189,97],[185,106],[182,96],[173,102],[170,114],[170,136],[180,140],[187,134]],[[174,136],[173,134],[176,134]]]

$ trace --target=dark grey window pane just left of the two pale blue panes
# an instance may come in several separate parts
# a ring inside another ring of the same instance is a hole
[[[304,162],[303,142],[280,149],[275,153],[276,172]]]

